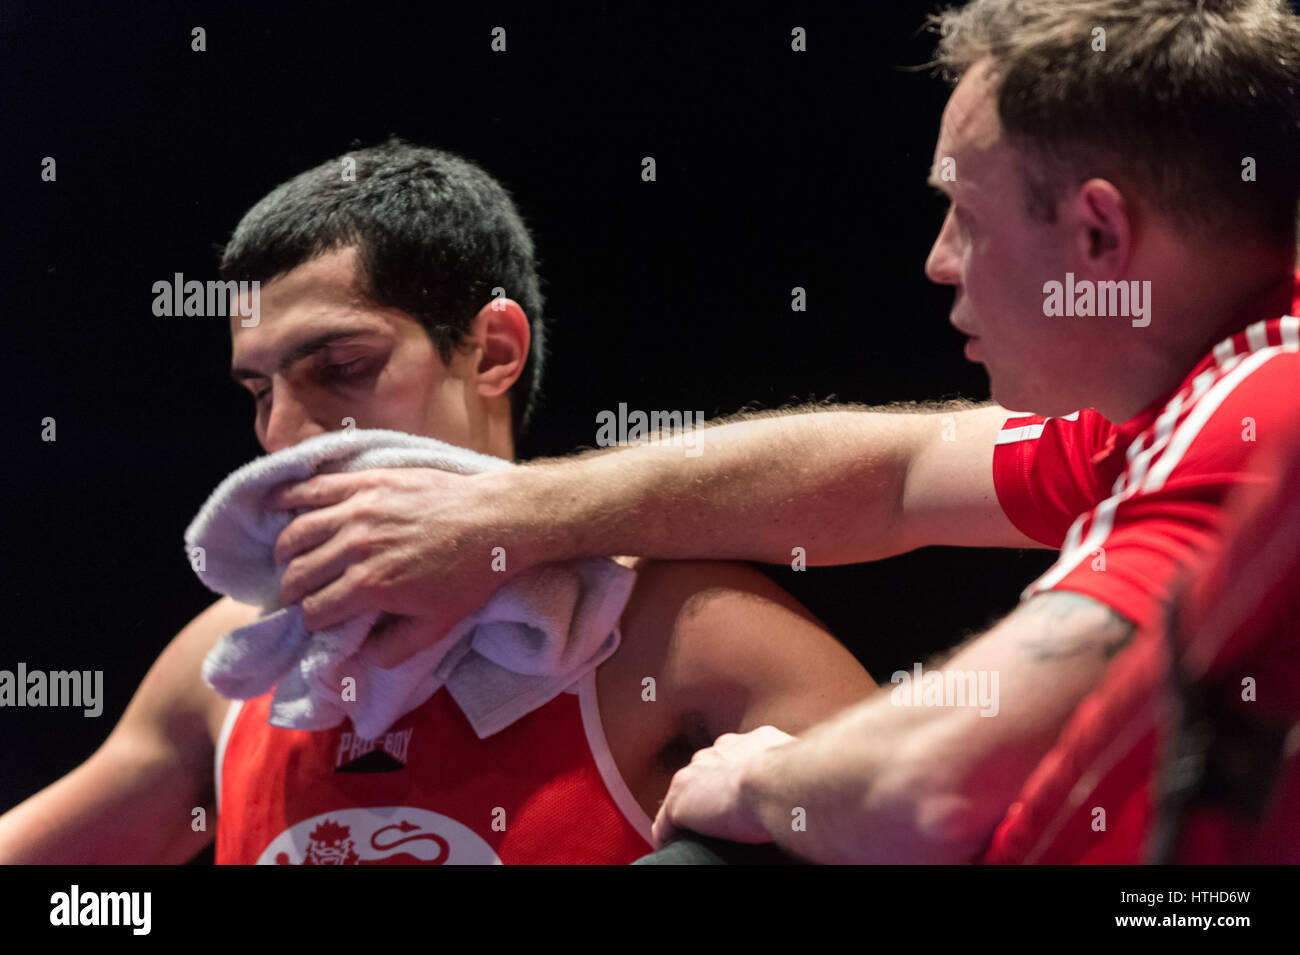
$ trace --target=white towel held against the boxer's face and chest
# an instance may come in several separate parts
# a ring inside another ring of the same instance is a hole
[[[302,608],[280,605],[283,567],[274,564],[273,551],[294,515],[268,509],[266,494],[313,474],[415,466],[473,474],[515,465],[433,438],[343,430],[259,457],[221,482],[185,533],[186,554],[211,590],[260,607],[263,617],[226,634],[208,654],[208,686],[231,699],[252,699],[274,686],[273,725],[329,729],[347,716],[360,737],[376,738],[446,685],[485,738],[618,650],[618,622],[636,574],[606,557],[517,574],[442,641],[390,670],[359,655],[376,612],[309,633]],[[484,573],[491,573],[488,567],[484,555]],[[346,677],[356,681],[355,702],[343,700]]]

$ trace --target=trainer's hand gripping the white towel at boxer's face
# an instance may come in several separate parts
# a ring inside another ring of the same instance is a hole
[[[300,603],[317,631],[367,611],[394,615],[364,652],[396,667],[530,565],[506,513],[514,495],[499,478],[507,473],[390,468],[277,489],[270,507],[307,508],[276,541],[276,563],[287,561],[281,604]],[[493,569],[494,547],[506,548],[504,572]]]

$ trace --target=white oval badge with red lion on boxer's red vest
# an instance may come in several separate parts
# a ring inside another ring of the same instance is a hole
[[[259,865],[500,865],[473,829],[428,809],[381,806],[304,819],[263,851]]]

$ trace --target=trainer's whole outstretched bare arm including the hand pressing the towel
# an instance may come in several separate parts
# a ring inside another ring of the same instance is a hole
[[[393,615],[398,622],[372,633],[368,652],[394,667],[511,574],[546,561],[628,554],[784,564],[798,554],[826,565],[930,544],[1037,547],[993,491],[1006,412],[962,408],[742,418],[693,433],[699,453],[690,455],[660,443],[471,477],[320,474],[273,499],[304,511],[276,542],[281,603],[300,603],[312,630],[364,611]],[[508,554],[504,573],[484,573],[497,548]]]

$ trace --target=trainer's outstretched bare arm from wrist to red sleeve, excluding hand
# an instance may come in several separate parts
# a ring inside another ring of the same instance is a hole
[[[993,491],[997,405],[820,411],[706,427],[680,447],[589,452],[502,474],[538,507],[547,559],[636,554],[811,565],[930,544],[1040,547]]]

